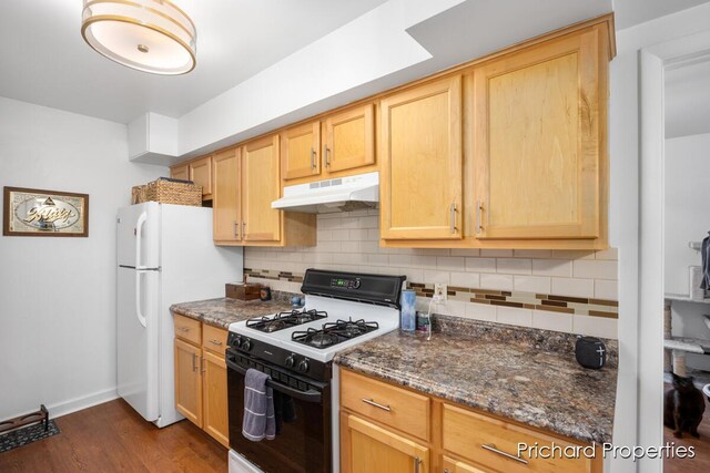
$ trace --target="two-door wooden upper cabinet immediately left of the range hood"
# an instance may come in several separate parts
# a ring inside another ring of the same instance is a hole
[[[281,197],[278,135],[214,155],[215,245],[314,246],[314,214],[271,208]]]

